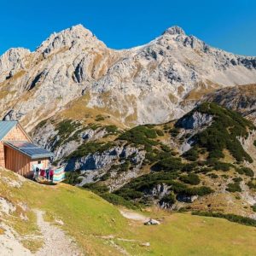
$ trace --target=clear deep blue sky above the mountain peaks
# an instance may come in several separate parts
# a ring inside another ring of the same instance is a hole
[[[177,25],[212,46],[256,55],[255,0],[13,0],[0,9],[0,55],[10,47],[34,50],[79,23],[114,49],[148,43]]]

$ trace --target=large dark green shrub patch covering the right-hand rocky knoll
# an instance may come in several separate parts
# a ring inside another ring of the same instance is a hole
[[[239,113],[226,108],[221,108],[215,103],[202,103],[191,112],[187,113],[183,119],[195,112],[205,113],[213,116],[212,125],[193,136],[191,140],[197,147],[207,148],[209,159],[219,159],[224,157],[224,149],[228,149],[230,154],[241,163],[243,160],[252,162],[252,158],[241,147],[237,137],[247,137],[248,131],[255,129],[252,122],[243,119]],[[182,122],[178,121],[176,127],[180,127]],[[190,152],[195,159],[195,150]]]

